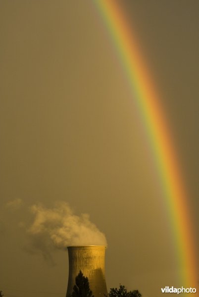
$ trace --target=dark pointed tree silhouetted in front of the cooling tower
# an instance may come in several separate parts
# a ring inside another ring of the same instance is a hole
[[[72,297],[94,297],[89,287],[88,277],[85,277],[80,270],[75,278],[75,285],[73,287]]]

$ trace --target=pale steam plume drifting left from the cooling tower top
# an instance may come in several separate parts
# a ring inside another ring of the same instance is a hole
[[[67,246],[106,246],[105,235],[89,219],[88,214],[77,216],[66,202],[57,202],[53,208],[32,205],[34,222],[28,229],[37,241],[47,239],[48,246],[65,249]],[[34,242],[36,242],[34,241]]]

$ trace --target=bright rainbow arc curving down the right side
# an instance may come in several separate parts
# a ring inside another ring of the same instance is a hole
[[[197,253],[188,196],[155,84],[122,7],[115,0],[94,0],[94,3],[118,53],[144,125],[154,167],[163,189],[162,199],[169,217],[175,257],[179,266],[186,271],[179,276],[180,285],[194,285],[196,288]]]

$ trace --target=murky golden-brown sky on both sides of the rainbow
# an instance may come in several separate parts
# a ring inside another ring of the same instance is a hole
[[[198,248],[199,2],[116,2],[160,94]],[[56,203],[105,235],[108,289],[181,287],[141,119],[93,1],[1,0],[0,65],[4,296],[65,296],[67,250],[31,233],[37,210],[46,217]]]

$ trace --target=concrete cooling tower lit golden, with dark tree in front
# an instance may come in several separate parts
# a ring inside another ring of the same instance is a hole
[[[90,289],[95,297],[107,295],[105,282],[105,247],[104,246],[75,246],[68,247],[69,274],[66,297],[72,294],[75,277],[80,270],[89,279]]]

